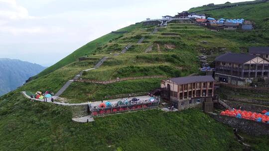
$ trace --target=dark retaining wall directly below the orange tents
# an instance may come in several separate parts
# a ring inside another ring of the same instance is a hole
[[[208,115],[218,122],[221,122],[233,128],[237,128],[240,131],[247,133],[249,135],[254,136],[269,135],[269,124],[266,123],[259,123],[255,121],[238,119],[229,116],[221,116],[214,114],[208,114]]]

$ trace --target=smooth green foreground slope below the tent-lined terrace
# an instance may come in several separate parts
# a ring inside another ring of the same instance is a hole
[[[67,107],[33,103],[9,95],[0,99],[1,151],[238,151],[242,148],[233,138],[231,128],[197,110],[138,111],[80,124],[71,121]]]

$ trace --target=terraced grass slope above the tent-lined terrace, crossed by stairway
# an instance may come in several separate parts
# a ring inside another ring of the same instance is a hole
[[[81,78],[109,80],[143,75],[186,76],[198,72],[198,55],[214,58],[225,52],[247,52],[249,46],[268,45],[264,38],[266,33],[256,31],[234,34],[227,31],[214,32],[195,24],[171,23],[151,34],[154,26],[134,26],[132,32],[121,34],[117,39],[98,46],[94,51],[85,50],[88,60],[75,61],[40,76],[26,83],[23,90],[51,90],[56,93],[66,81],[82,70],[93,68],[105,56],[110,58],[100,68],[83,73]],[[137,44],[142,37],[142,43]],[[125,54],[114,56],[127,45],[132,46]],[[89,99],[101,100],[110,95],[148,92],[159,87],[159,80],[129,80],[108,85],[75,82],[61,97],[65,97],[67,102],[80,103]]]

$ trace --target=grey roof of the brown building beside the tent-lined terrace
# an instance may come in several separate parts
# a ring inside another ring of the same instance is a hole
[[[172,80],[173,82],[175,82],[177,84],[215,81],[214,78],[211,75],[174,77],[174,78],[170,78],[170,80]]]

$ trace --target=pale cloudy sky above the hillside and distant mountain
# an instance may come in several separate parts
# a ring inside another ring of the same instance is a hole
[[[0,58],[51,66],[82,45],[147,17],[226,1],[0,0]]]

